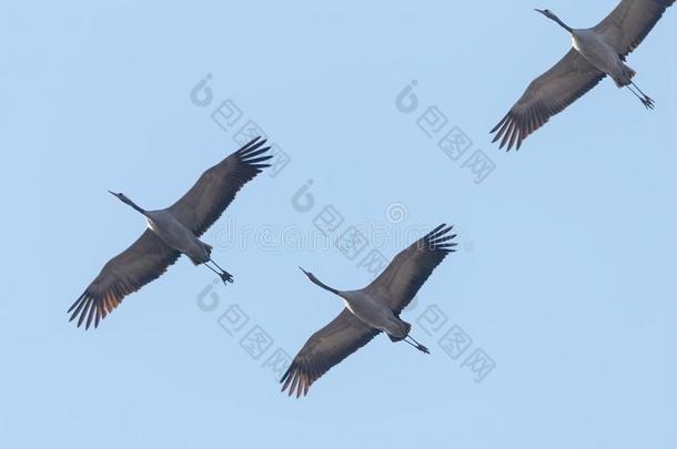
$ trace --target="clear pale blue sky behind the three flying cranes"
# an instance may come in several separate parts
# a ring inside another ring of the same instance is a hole
[[[41,3],[0,7],[0,446],[677,446],[677,9],[628,60],[655,111],[605,80],[506,154],[488,131],[569,47],[533,8],[587,27],[616,0]],[[211,114],[229,99],[242,116],[223,130]],[[433,105],[439,133],[472,140],[457,161],[417,126]],[[205,235],[235,284],[182,258],[97,330],[69,324],[144,227],[107,190],[164,207],[249,120],[291,163]],[[477,150],[495,165],[479,184]],[[326,205],[338,233],[386,238],[352,261],[309,243]],[[281,395],[269,356],[294,355],[342,307],[296,266],[357,288],[368,251],[390,258],[441,222],[461,251],[403,315],[433,354],[381,336],[305,399]],[[249,317],[234,336],[229,310]],[[472,338],[456,359],[438,343],[454,325]],[[240,341],[257,329],[272,343],[255,359]],[[463,366],[475,350],[495,363],[479,382]]]

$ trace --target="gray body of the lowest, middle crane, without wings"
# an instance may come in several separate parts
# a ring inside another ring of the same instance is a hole
[[[375,297],[364,290],[340,292],[345,307],[364,324],[400,340],[410,333],[411,325],[393,314],[387,298]]]

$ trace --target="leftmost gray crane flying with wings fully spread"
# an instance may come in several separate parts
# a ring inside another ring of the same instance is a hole
[[[204,265],[216,273],[223,283],[233,276],[211,257],[212,246],[200,236],[223,214],[244,184],[270,166],[271,159],[262,147],[265,140],[256,137],[219,164],[205,171],[185,195],[168,208],[145,211],[122,193],[113,193],[120,201],[141,213],[148,229],[130,247],[110,259],[97,278],[68,309],[70,320],[78,318],[89,329],[110,314],[122,299],[164,274],[181,254],[194,265]],[[209,265],[212,263],[214,267]]]

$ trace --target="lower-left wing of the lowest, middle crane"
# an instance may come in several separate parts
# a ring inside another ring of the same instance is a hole
[[[280,380],[289,396],[307,395],[307,390],[323,374],[341,360],[370,343],[381,330],[367,326],[348,309],[317,330],[301,348]]]

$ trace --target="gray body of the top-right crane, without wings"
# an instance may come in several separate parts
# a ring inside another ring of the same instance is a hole
[[[635,71],[626,65],[604,37],[592,29],[572,30],[572,45],[590,64],[614,79],[619,88],[633,80]]]

